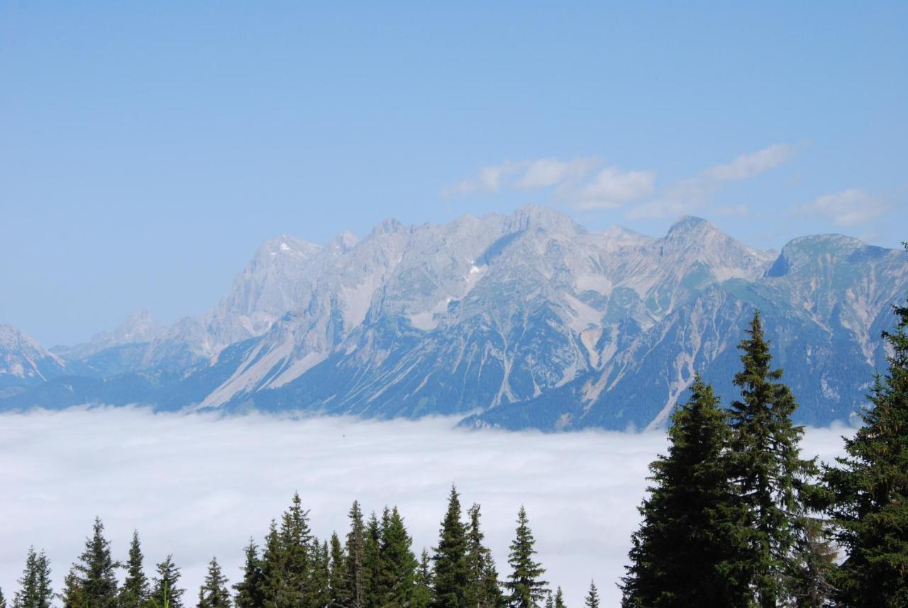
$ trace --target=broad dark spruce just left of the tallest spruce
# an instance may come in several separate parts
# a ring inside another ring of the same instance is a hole
[[[623,602],[640,608],[738,608],[750,604],[747,510],[735,494],[727,453],[731,429],[713,388],[696,376],[672,415],[668,454],[631,536]]]

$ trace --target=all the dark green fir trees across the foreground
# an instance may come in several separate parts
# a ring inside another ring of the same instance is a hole
[[[774,369],[759,313],[739,345],[741,395],[727,407],[697,377],[672,416],[665,456],[631,537],[623,608],[908,608],[908,307],[883,332],[887,373],[878,375],[863,425],[844,438],[834,465],[800,457],[797,404]],[[564,608],[542,579],[523,507],[499,580],[483,544],[479,505],[461,514],[452,487],[438,546],[417,558],[397,508],[320,541],[299,495],[262,546],[245,548],[231,586],[212,558],[196,608]],[[122,584],[116,569],[124,568]],[[115,562],[95,520],[84,553],[56,595],[64,608],[184,608],[180,570],[168,556],[148,579],[139,537]],[[30,550],[13,608],[50,608],[45,554]],[[598,608],[595,583],[587,608]],[[0,608],[6,608],[0,592]]]

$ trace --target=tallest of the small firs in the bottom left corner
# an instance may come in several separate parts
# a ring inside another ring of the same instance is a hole
[[[117,583],[110,541],[104,538],[104,524],[94,518],[92,535],[65,579],[64,605],[81,608],[116,608]]]

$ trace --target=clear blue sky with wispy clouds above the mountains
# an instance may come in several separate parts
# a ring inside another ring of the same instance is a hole
[[[908,239],[906,3],[0,1],[0,322],[202,312],[262,240],[552,205]]]

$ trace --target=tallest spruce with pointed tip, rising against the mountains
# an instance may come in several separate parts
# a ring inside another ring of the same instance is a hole
[[[735,374],[741,399],[731,405],[732,440],[738,493],[749,511],[749,554],[743,560],[753,574],[755,600],[775,608],[792,600],[804,573],[804,522],[814,489],[809,480],[818,473],[813,460],[802,460],[798,444],[803,427],[791,417],[797,403],[772,369],[769,344],[759,312],[741,341],[744,368]]]

